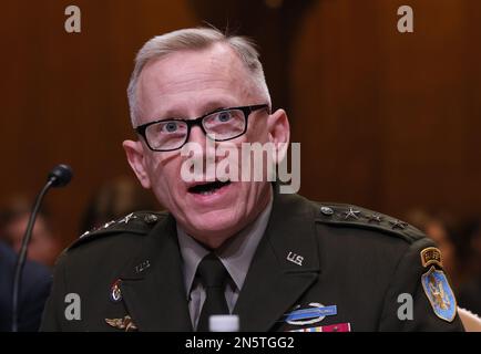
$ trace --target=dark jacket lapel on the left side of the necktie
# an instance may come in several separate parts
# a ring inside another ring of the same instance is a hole
[[[192,331],[172,216],[145,237],[121,279],[122,296],[140,331]]]

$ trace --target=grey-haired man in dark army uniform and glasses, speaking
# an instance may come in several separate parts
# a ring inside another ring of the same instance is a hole
[[[65,250],[43,330],[208,331],[219,313],[237,314],[240,331],[463,330],[441,254],[411,226],[282,194],[266,178],[209,179],[203,168],[185,180],[181,152],[196,143],[204,157],[206,136],[285,154],[287,116],[270,111],[248,41],[214,29],[154,38],[129,98],[140,136],[123,144],[129,163],[168,212],[131,214]]]

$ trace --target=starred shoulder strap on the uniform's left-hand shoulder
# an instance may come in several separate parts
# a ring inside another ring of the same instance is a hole
[[[164,219],[167,212],[139,211],[131,212],[119,220],[112,220],[103,226],[85,231],[76,239],[68,250],[79,247],[100,237],[116,233],[147,233],[160,220]]]

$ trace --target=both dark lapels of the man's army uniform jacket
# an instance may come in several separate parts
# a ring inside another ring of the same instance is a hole
[[[265,235],[254,248],[234,308],[242,331],[274,329],[319,277],[318,212],[299,196],[274,194],[267,228],[259,232]],[[120,273],[122,296],[140,331],[192,331],[176,233],[175,219],[168,215],[145,235],[141,251]]]

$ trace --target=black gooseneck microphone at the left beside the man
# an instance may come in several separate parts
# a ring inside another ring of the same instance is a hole
[[[43,197],[50,187],[63,187],[66,186],[72,179],[72,169],[68,165],[58,165],[49,174],[45,186],[43,186],[40,194],[37,196],[35,202],[33,205],[32,212],[30,214],[29,223],[27,225],[27,230],[23,236],[22,246],[19,251],[16,264],[16,273],[13,278],[13,292],[12,292],[12,332],[18,332],[18,311],[19,311],[19,294],[20,285],[23,272],[23,266],[27,260],[27,251],[32,238],[32,230],[35,223],[37,214],[39,212],[40,205],[42,204]]]

